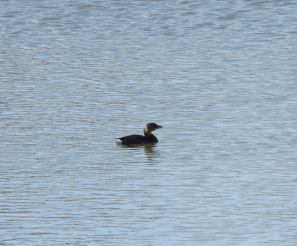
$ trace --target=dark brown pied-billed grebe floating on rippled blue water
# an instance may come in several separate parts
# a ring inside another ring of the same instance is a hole
[[[125,137],[117,138],[116,142],[119,145],[143,145],[143,144],[155,144],[158,142],[158,138],[152,133],[153,131],[163,128],[155,123],[146,124],[143,128],[142,135],[129,135]]]

